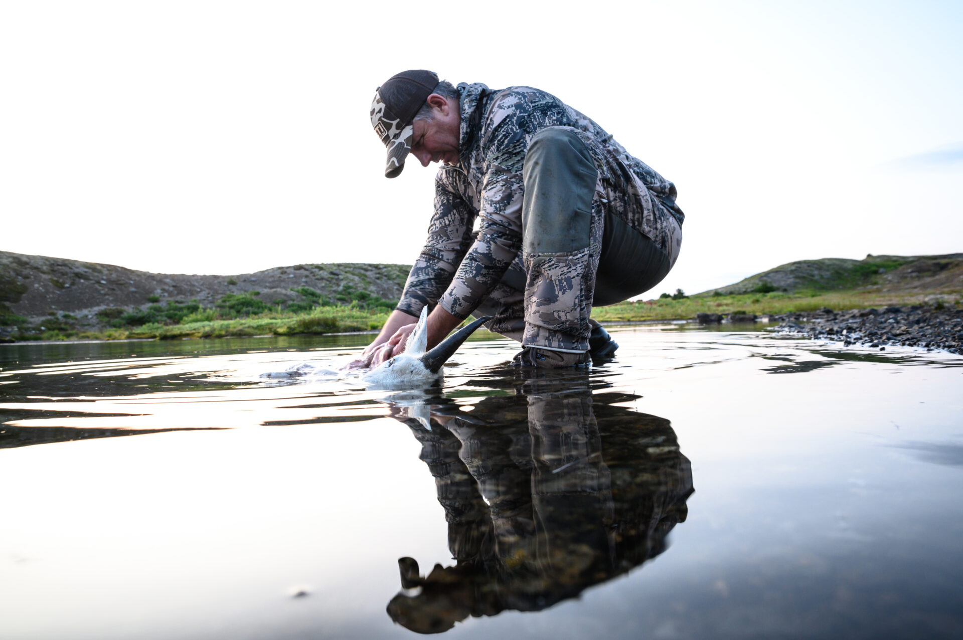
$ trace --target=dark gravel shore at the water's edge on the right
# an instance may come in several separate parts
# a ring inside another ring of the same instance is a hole
[[[838,340],[844,345],[921,346],[963,353],[963,309],[950,307],[886,307],[776,316],[777,331],[806,334],[818,340]]]

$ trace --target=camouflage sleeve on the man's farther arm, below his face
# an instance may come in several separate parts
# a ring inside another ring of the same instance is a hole
[[[455,166],[442,166],[434,179],[434,214],[428,240],[408,272],[396,309],[418,316],[444,293],[472,243],[476,209],[468,194],[468,177]]]

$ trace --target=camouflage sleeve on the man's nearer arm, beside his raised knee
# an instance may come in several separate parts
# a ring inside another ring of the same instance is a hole
[[[478,307],[522,248],[522,165],[528,141],[512,118],[503,118],[491,140],[481,183],[479,235],[439,300],[455,318],[465,319]]]

